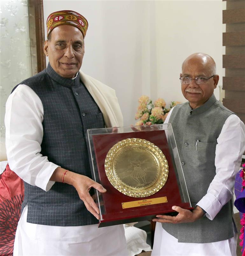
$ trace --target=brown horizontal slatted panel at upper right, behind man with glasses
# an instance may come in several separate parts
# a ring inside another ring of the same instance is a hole
[[[223,11],[223,104],[245,122],[245,1],[227,0]]]

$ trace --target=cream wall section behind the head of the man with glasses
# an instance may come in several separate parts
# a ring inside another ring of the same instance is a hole
[[[222,85],[222,1],[156,3],[157,93],[185,102],[179,74],[183,60],[195,52],[213,57]],[[219,100],[219,89],[214,91]]]

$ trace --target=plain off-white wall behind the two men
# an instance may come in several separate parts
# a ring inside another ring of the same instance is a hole
[[[185,102],[179,73],[194,52],[213,56],[222,84],[222,0],[57,3],[44,0],[44,20],[67,9],[88,19],[81,69],[116,90],[124,125],[135,123],[142,94]]]

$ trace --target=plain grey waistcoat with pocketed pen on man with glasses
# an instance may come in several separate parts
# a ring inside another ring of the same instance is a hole
[[[215,149],[226,119],[234,114],[212,95],[197,109],[188,102],[177,105],[170,116],[185,182],[192,207],[207,193],[215,176]],[[197,144],[196,141],[200,140]],[[196,150],[197,149],[197,150]],[[203,216],[196,222],[162,226],[183,243],[211,243],[233,237],[233,204],[230,200],[211,221]]]

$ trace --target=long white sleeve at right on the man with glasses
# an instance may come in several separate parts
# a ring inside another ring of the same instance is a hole
[[[245,150],[245,125],[236,115],[230,115],[217,139],[215,151],[216,175],[206,195],[197,203],[213,220],[221,208],[233,197],[235,175],[239,171]]]

